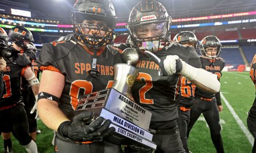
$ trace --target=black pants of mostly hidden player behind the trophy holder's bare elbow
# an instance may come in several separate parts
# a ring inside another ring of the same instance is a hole
[[[23,96],[23,103],[25,105],[28,121],[29,121],[29,133],[32,133],[32,132],[35,132],[37,129],[37,124],[35,119],[36,111],[33,114],[30,114],[30,111],[32,110],[35,104],[34,94],[31,88],[26,88],[22,90],[22,96]]]

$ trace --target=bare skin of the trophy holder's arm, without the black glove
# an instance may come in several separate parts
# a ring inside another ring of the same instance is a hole
[[[46,92],[60,98],[65,84],[63,74],[44,70],[42,71],[39,92]],[[64,121],[69,121],[65,114],[58,108],[58,102],[41,98],[38,100],[38,113],[42,122],[50,129],[57,131],[59,125]]]

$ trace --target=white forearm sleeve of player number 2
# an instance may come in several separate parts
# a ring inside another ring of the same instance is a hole
[[[190,81],[195,80],[216,92],[220,91],[221,84],[218,81],[218,76],[204,69],[193,67],[182,61],[182,70],[179,74],[183,75]]]

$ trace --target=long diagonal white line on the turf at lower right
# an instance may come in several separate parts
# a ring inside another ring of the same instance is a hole
[[[234,112],[233,108],[231,107],[231,105],[228,103],[227,99],[224,97],[224,95],[222,94],[222,92],[220,92],[221,97],[223,99],[223,101],[225,102],[227,108],[229,109],[229,111],[231,112],[231,114],[233,115],[234,119],[236,119],[238,125],[240,126],[241,130],[244,132],[245,136],[247,137],[247,139],[249,140],[251,146],[253,146],[254,143],[254,138],[252,137],[251,133],[247,130],[247,128],[245,127],[244,123],[242,122],[242,120],[238,117],[238,115],[236,114],[236,112]]]

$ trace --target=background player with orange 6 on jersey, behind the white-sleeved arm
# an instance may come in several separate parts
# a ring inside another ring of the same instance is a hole
[[[197,50],[199,44],[196,35],[189,31],[178,33],[174,37],[173,42],[193,47],[195,50]],[[183,148],[186,150],[186,152],[189,152],[187,150],[187,125],[189,122],[190,109],[194,104],[193,99],[195,97],[196,86],[183,76],[180,76],[179,84],[177,96],[177,122]]]

